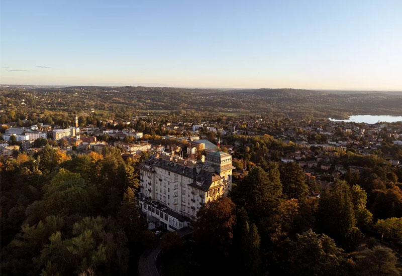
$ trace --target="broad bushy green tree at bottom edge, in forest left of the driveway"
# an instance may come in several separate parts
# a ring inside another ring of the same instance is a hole
[[[49,262],[57,266],[57,271],[62,274],[72,274],[80,270],[93,269],[107,266],[115,262],[120,264],[121,258],[128,261],[127,256],[122,256],[119,251],[125,251],[125,235],[115,228],[111,219],[104,217],[85,217],[74,223],[72,237],[63,239],[60,231],[53,233],[49,241],[40,252],[36,263],[48,269]],[[54,261],[57,259],[57,261]],[[127,263],[120,264],[121,271],[127,269]],[[113,274],[113,270],[109,269]]]

